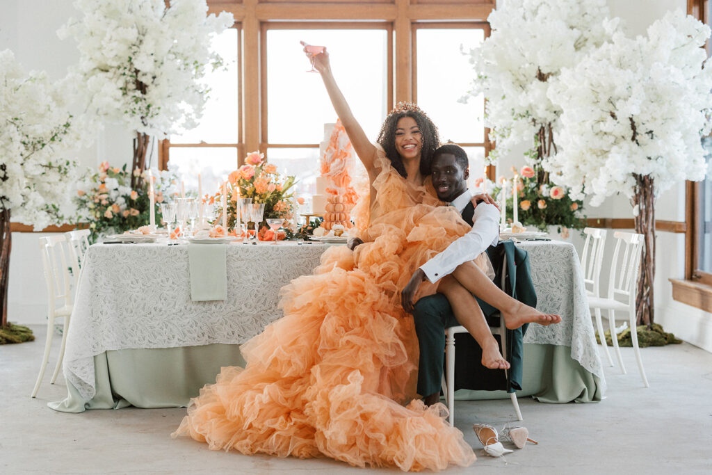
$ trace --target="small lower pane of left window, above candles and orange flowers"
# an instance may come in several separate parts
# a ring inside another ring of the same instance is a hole
[[[172,147],[168,167],[184,181],[186,192],[198,192],[198,174],[203,194],[215,193],[219,185],[237,168],[237,149],[233,147]]]

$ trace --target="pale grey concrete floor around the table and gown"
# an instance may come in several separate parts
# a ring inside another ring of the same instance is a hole
[[[63,414],[46,406],[63,399],[62,377],[49,384],[58,344],[38,397],[29,397],[46,330],[37,340],[0,345],[1,474],[360,474],[398,473],[356,469],[330,459],[277,459],[210,451],[192,439],[171,439],[185,409],[93,410]],[[456,425],[478,460],[449,474],[695,474],[712,473],[712,354],[688,344],[645,348],[650,381],[644,388],[632,350],[629,370],[606,367],[607,397],[598,404],[542,404],[521,399],[528,445],[499,459],[483,455],[473,422],[503,426],[513,420],[508,400],[456,402]],[[508,446],[509,447],[509,446]],[[513,448],[513,447],[511,447]]]

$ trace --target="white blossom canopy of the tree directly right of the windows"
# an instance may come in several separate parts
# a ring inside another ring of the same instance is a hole
[[[548,91],[562,68],[574,66],[606,34],[606,0],[507,0],[488,17],[492,32],[471,51],[477,77],[469,96],[487,98],[485,125],[496,150],[490,160],[557,127],[561,114]]]

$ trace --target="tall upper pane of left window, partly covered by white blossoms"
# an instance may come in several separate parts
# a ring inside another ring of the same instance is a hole
[[[213,38],[213,49],[222,56],[226,71],[209,71],[203,82],[209,99],[198,127],[173,135],[173,143],[237,143],[237,28],[228,28]]]

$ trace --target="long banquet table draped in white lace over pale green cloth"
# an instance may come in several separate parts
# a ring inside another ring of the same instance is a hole
[[[562,323],[530,325],[523,391],[545,402],[600,400],[605,382],[574,247],[525,241],[538,308]],[[62,412],[180,407],[221,366],[244,365],[239,345],[281,317],[279,289],[311,273],[326,247],[227,246],[225,301],[192,301],[188,246],[95,244],[85,258],[68,329]],[[464,394],[461,397],[482,397]]]

